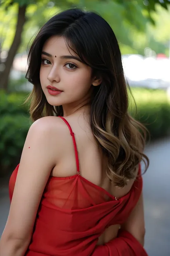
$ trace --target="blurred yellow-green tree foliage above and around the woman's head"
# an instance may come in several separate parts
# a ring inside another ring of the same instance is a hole
[[[29,39],[33,39],[52,15],[75,6],[95,10],[106,19],[117,36],[122,54],[143,55],[145,47],[166,54],[169,49],[169,1],[164,4],[159,0],[9,0],[0,5],[0,40],[3,50],[11,47],[16,32],[18,3],[27,4],[27,22],[24,24],[19,53],[25,52]],[[7,11],[6,6],[9,6]]]

